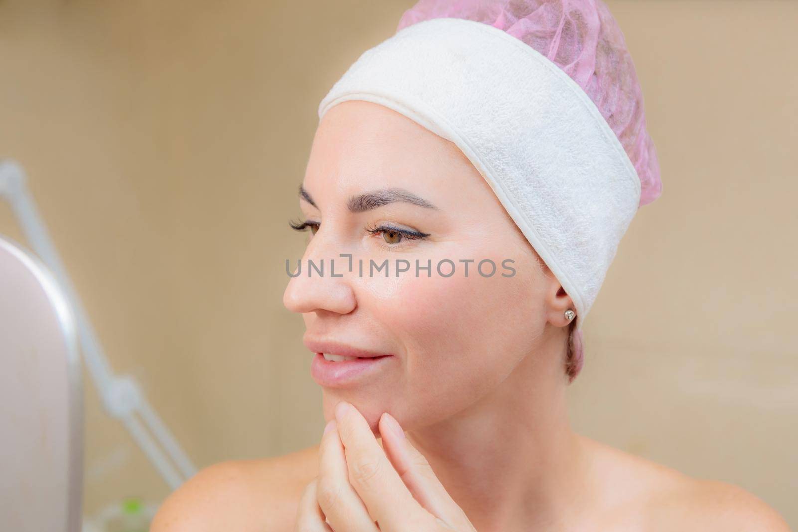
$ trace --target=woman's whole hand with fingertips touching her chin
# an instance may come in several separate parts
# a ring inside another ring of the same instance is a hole
[[[476,532],[388,412],[377,425],[382,447],[351,404],[338,403],[335,418],[322,435],[318,476],[302,491],[294,530]]]

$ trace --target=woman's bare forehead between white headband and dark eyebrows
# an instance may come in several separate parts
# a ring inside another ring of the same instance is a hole
[[[325,194],[382,187],[429,194],[458,175],[464,179],[464,171],[476,168],[451,141],[393,109],[352,100],[330,108],[319,123],[304,186]]]

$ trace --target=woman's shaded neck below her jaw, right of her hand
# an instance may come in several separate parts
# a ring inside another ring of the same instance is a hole
[[[579,507],[585,456],[551,366],[526,357],[488,396],[407,433],[480,532],[563,529]]]

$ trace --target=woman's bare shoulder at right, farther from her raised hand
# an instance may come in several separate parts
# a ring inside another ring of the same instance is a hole
[[[606,511],[605,530],[790,532],[784,518],[749,491],[697,479],[672,467],[585,439]]]

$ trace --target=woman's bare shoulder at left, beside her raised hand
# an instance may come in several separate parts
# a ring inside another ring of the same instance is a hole
[[[318,474],[317,463],[318,445],[206,467],[168,496],[150,532],[290,532],[302,490]]]

